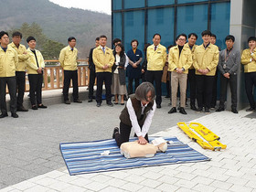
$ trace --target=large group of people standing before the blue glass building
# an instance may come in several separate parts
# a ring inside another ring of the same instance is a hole
[[[250,101],[250,111],[255,110],[255,101],[253,99],[252,89],[256,85],[253,59],[255,51],[255,37],[248,39],[249,49],[245,49],[240,58],[240,51],[234,48],[235,37],[229,35],[225,38],[226,48],[219,50],[216,43],[216,35],[209,30],[201,33],[203,43],[196,45],[197,34],[188,35],[180,34],[176,37],[176,45],[170,46],[168,50],[160,44],[161,35],[155,34],[153,44],[147,45],[143,53],[139,50],[139,42],[136,39],[131,41],[131,49],[125,54],[120,39],[114,39],[112,59],[108,61],[109,80],[105,82],[107,104],[112,105],[111,95],[114,95],[114,103],[118,103],[118,96],[121,95],[121,104],[125,96],[133,94],[133,80],[135,89],[140,84],[140,78],[144,76],[144,80],[155,84],[155,103],[156,108],[161,108],[162,102],[162,75],[165,65],[167,65],[168,76],[170,77],[171,105],[172,108],[168,113],[177,112],[187,114],[185,106],[187,103],[187,87],[190,92],[190,108],[196,112],[210,113],[210,109],[214,109],[217,100],[217,77],[220,75],[220,97],[219,108],[216,112],[225,110],[225,101],[227,97],[227,86],[230,85],[231,91],[231,112],[237,111],[237,74],[240,63],[244,65],[245,72],[245,89]],[[101,39],[101,38],[100,38]],[[101,45],[101,43],[100,43]],[[97,53],[91,51],[90,66],[93,63],[96,66],[96,74],[102,76],[106,72],[102,68],[99,58],[104,57],[101,45],[97,48]],[[167,54],[168,52],[168,54]],[[108,53],[107,53],[108,54]],[[97,56],[96,56],[97,55]],[[167,64],[166,64],[167,63]],[[91,69],[91,68],[90,68]],[[97,70],[98,69],[98,70]],[[128,91],[125,85],[125,69],[128,77]],[[93,77],[93,76],[92,76]],[[95,76],[94,76],[95,77]],[[95,78],[93,78],[95,79]],[[101,79],[100,79],[101,82]],[[94,81],[93,81],[94,83]],[[93,84],[92,84],[93,85]],[[97,106],[101,106],[101,87],[98,91],[97,83]],[[93,91],[93,89],[90,89]],[[112,91],[111,91],[112,90]],[[92,92],[91,91],[91,92]],[[92,101],[93,92],[90,94]],[[177,108],[177,96],[180,103]],[[197,106],[196,106],[197,101]],[[177,108],[177,109],[176,109]]]

